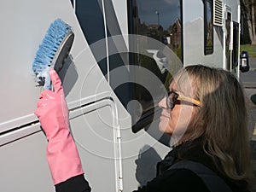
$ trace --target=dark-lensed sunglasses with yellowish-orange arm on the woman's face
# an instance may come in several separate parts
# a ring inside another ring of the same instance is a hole
[[[201,105],[201,103],[198,100],[192,99],[188,96],[182,96],[180,94],[177,94],[177,92],[171,90],[166,95],[166,106],[167,106],[167,108],[170,108],[170,109],[174,108],[175,105],[176,105],[177,100],[190,102],[190,103],[193,103],[196,106]]]

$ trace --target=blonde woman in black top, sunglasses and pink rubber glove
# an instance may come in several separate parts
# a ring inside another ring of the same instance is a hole
[[[50,77],[55,92],[42,93],[35,113],[49,139],[47,158],[55,189],[90,191],[69,133],[61,80],[54,70]],[[209,168],[232,191],[248,191],[247,110],[241,85],[231,73],[204,66],[184,67],[172,79],[159,106],[159,127],[172,135],[172,150],[158,164],[158,176],[137,191],[211,191],[196,172],[173,168],[183,160]],[[71,153],[73,160],[67,160]]]

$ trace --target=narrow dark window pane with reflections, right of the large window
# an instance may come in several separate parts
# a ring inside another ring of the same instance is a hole
[[[205,25],[205,55],[213,53],[213,13],[212,0],[205,0],[204,25]]]

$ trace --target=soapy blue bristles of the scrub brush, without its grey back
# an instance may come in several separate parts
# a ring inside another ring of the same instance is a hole
[[[63,20],[57,19],[50,24],[42,44],[39,45],[39,49],[32,64],[32,70],[36,75],[35,81],[38,85],[44,85],[44,89],[51,89],[49,79],[49,68],[52,67],[51,62],[61,45],[61,41],[65,38],[67,33],[71,31],[71,26],[67,25]]]

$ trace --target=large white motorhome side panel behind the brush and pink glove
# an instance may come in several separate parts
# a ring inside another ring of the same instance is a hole
[[[113,4],[119,10],[119,3],[115,1]],[[124,10],[125,3],[120,6]],[[121,15],[121,12],[118,11],[117,15]],[[32,62],[50,23],[57,18],[66,21],[75,33],[68,65],[60,76],[72,118],[71,129],[79,146],[86,178],[93,191],[116,190],[119,165],[113,128],[119,126],[124,191],[137,189],[136,160],[147,151],[145,146],[158,151],[156,156],[160,158],[168,148],[145,131],[137,134],[131,132],[131,116],[102,76],[70,1],[9,0],[3,1],[0,7],[0,191],[45,192],[54,189],[45,156],[46,139],[37,122],[31,125],[38,120],[33,112],[42,91],[42,88],[35,86]],[[119,22],[122,20],[125,17]],[[125,26],[121,26],[121,29],[126,32]],[[90,108],[88,103],[101,100],[112,102],[111,108],[80,109],[84,106]],[[116,114],[118,119],[115,119]],[[140,175],[141,179],[146,177]]]

